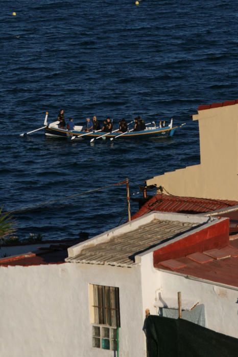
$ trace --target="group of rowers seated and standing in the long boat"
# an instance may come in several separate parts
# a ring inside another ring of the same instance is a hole
[[[75,129],[75,124],[73,118],[68,119],[68,123],[66,125],[65,119],[64,119],[64,110],[61,109],[58,114],[57,120],[59,121],[59,127],[60,129],[66,129],[69,131],[73,131]],[[142,130],[146,129],[146,124],[143,119],[141,119],[140,116],[136,117],[134,119],[134,132],[139,132]],[[106,120],[103,121],[102,127],[100,125],[99,120],[97,119],[97,116],[94,115],[92,117],[92,120],[90,118],[86,118],[86,123],[85,126],[83,127],[84,132],[91,132],[91,131],[98,131],[101,130],[102,132],[105,133],[110,133],[113,130],[113,122],[112,120],[107,117]],[[128,131],[128,124],[125,119],[120,120],[119,122],[119,127],[118,127],[118,132],[121,133],[126,133]]]

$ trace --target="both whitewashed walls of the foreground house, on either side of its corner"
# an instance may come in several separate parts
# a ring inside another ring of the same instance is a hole
[[[114,357],[92,347],[89,284],[120,288],[120,357],[144,357],[144,311],[155,298],[199,300],[208,328],[238,337],[238,291],[154,269],[153,253],[134,268],[73,264],[0,267],[0,356]]]

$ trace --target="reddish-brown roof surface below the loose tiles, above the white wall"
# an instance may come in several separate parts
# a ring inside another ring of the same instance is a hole
[[[168,261],[165,261],[156,264],[155,267],[238,287],[238,239],[230,241],[230,245],[216,250],[219,251],[219,256],[209,257],[206,262],[194,259],[195,254],[201,254],[195,252],[187,257],[177,258],[173,264],[168,264]],[[193,259],[191,259],[191,255],[194,256]]]

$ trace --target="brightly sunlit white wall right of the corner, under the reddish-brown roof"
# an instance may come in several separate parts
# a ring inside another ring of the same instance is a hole
[[[156,314],[154,307],[158,293],[161,297],[199,301],[205,306],[206,327],[238,338],[238,289],[208,284],[184,276],[157,270],[153,267],[153,252],[141,257],[141,286],[143,308]]]

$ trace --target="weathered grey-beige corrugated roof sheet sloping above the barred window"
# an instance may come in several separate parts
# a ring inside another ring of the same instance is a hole
[[[67,258],[66,261],[130,267],[135,264],[136,254],[197,225],[192,222],[154,219],[134,231],[114,236],[110,241],[87,245],[77,256]]]

